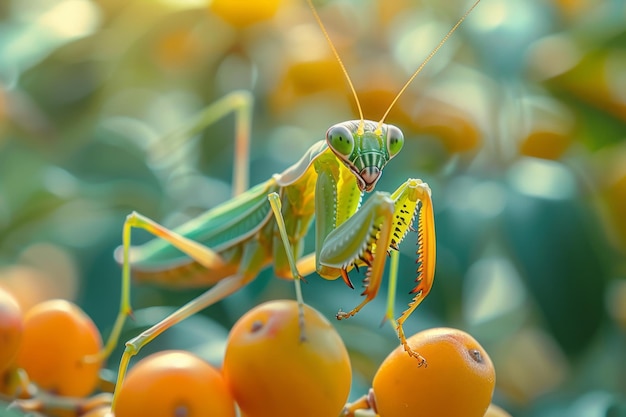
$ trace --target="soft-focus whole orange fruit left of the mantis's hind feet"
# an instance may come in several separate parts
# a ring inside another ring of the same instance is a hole
[[[66,300],[49,300],[26,312],[16,363],[40,388],[82,397],[96,387],[101,365],[84,359],[101,349],[100,333],[80,307]]]

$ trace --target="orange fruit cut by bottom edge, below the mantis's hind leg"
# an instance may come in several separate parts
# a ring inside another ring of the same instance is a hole
[[[235,417],[235,401],[222,374],[185,351],[147,356],[131,368],[115,417]]]

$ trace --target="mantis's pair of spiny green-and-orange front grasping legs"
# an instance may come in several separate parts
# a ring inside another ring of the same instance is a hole
[[[417,285],[411,291],[415,296],[396,322],[393,319],[393,303],[397,264],[392,264],[389,286],[393,294],[389,295],[387,301],[387,317],[396,328],[404,349],[421,364],[425,363],[425,359],[410,348],[402,326],[433,284],[436,245],[430,194],[428,185],[417,179],[407,180],[392,195],[381,192],[373,194],[359,211],[328,234],[318,261],[325,266],[346,269],[353,262],[357,253],[355,251],[358,251],[358,256],[368,265],[366,287],[362,294],[365,299],[352,310],[337,313],[338,319],[352,317],[376,297],[382,282],[386,255],[395,252],[398,242],[411,229],[413,215],[417,213]],[[392,256],[397,256],[397,253]]]

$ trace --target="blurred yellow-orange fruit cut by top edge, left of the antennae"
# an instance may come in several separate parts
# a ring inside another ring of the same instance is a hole
[[[210,10],[235,27],[274,17],[281,0],[213,0]]]

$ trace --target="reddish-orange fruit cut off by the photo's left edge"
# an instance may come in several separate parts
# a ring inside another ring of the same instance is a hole
[[[0,288],[0,374],[11,367],[17,355],[24,321],[15,298]]]

